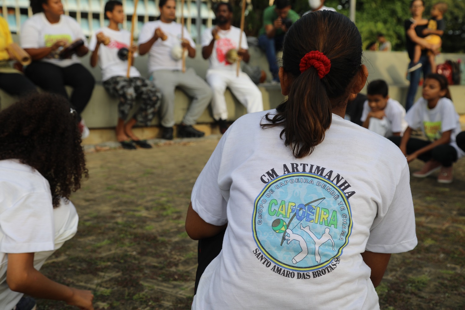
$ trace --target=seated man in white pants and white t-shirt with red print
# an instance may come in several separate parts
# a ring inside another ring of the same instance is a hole
[[[250,55],[247,51],[249,46],[246,34],[231,25],[232,6],[219,2],[215,14],[217,26],[206,29],[202,34],[202,56],[210,61],[206,81],[213,90],[213,118],[218,122],[221,133],[224,133],[228,118],[226,87],[229,87],[239,102],[247,108],[247,113],[263,111],[263,100],[260,90],[246,73],[239,71],[239,77],[236,75],[238,60],[231,57],[234,54],[231,50],[236,50],[237,55],[245,62],[249,62]],[[240,36],[242,36],[241,46],[239,46]]]

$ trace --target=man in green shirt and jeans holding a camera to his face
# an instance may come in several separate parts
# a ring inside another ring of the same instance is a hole
[[[276,51],[283,47],[284,34],[298,19],[289,0],[274,0],[272,7],[263,11],[263,26],[259,31],[259,46],[266,53],[273,81],[279,82]]]

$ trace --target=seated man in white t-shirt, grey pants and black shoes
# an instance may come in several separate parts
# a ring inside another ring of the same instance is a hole
[[[159,0],[160,19],[146,23],[139,34],[139,53],[149,53],[148,71],[159,86],[163,98],[160,108],[162,138],[173,139],[174,90],[181,88],[193,98],[178,128],[182,138],[199,138],[205,135],[193,127],[212,100],[212,91],[193,68],[182,69],[182,53],[195,57],[195,43],[186,27],[176,23],[176,1]],[[181,34],[184,39],[181,40]],[[184,52],[183,52],[184,51]]]

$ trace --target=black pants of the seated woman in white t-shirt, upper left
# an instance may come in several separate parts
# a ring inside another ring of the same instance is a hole
[[[81,64],[62,68],[43,61],[33,61],[27,66],[25,73],[43,90],[58,93],[68,99],[79,115],[89,102],[95,86],[92,74]],[[71,98],[68,98],[65,85],[73,87]]]

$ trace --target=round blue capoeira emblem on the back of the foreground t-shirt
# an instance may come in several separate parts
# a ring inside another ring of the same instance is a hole
[[[262,253],[280,267],[325,268],[349,242],[350,204],[330,180],[288,173],[270,181],[255,200],[252,231]]]

